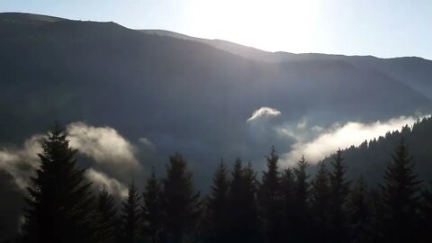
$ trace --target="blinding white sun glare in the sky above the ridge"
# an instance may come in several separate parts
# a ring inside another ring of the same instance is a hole
[[[190,16],[203,37],[233,40],[266,50],[306,52],[316,33],[320,1],[199,1]]]

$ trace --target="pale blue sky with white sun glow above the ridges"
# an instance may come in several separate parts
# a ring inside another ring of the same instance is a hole
[[[430,0],[1,0],[0,12],[112,21],[270,51],[432,59]]]

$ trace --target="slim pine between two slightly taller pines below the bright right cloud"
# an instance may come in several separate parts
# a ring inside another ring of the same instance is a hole
[[[329,172],[323,162],[320,162],[320,169],[311,182],[311,211],[313,215],[314,232],[312,237],[315,241],[329,241],[330,224],[330,187]]]

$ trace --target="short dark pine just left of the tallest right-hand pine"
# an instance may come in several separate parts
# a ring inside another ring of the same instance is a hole
[[[361,176],[353,187],[348,200],[349,224],[352,242],[370,242],[369,229],[371,226],[372,210],[368,202],[367,186]]]

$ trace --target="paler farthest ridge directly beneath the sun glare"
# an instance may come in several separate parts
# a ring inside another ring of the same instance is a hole
[[[268,52],[260,49],[245,47],[226,40],[206,40],[194,38],[172,31],[144,30],[149,34],[169,36],[184,40],[194,40],[211,45],[217,49],[223,49],[244,58],[270,63],[307,61],[307,60],[342,60],[356,65],[356,67],[375,69],[395,78],[414,88],[420,94],[432,98],[432,61],[424,58],[375,58],[372,56],[344,56],[326,55],[318,53],[293,54],[289,52]]]

